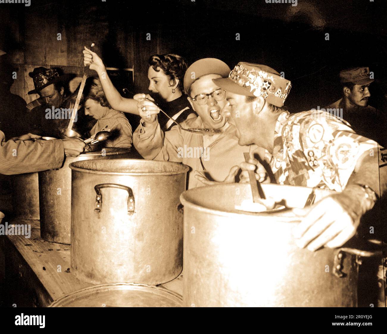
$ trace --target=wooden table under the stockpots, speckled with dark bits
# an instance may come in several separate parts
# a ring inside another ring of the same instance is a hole
[[[71,273],[70,245],[41,239],[38,220],[17,219],[9,222],[9,225],[12,223],[31,224],[31,237],[25,238],[24,235],[2,237],[6,282],[14,283],[14,287],[11,287],[12,284],[9,285],[10,290],[14,288],[22,290],[19,297],[17,295],[10,297],[8,301],[10,305],[4,306],[12,306],[15,303],[17,306],[45,307],[73,291],[92,286],[75,278]],[[182,295],[182,283],[180,275],[160,286]]]

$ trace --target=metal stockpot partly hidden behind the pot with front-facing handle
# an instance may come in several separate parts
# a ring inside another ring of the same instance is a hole
[[[71,169],[75,161],[128,158],[127,148],[104,148],[98,152],[66,157],[60,169],[39,172],[40,235],[43,240],[70,244],[71,228]]]

